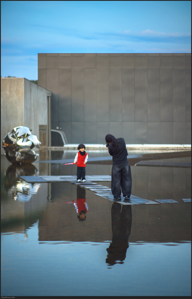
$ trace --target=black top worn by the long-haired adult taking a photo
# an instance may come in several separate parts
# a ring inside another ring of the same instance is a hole
[[[113,156],[113,165],[118,165],[127,161],[127,149],[124,138],[117,138],[116,139],[118,145],[118,151],[114,153],[114,147],[112,143],[109,144],[108,151],[109,155]]]

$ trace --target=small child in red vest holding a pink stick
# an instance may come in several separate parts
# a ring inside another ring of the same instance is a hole
[[[74,159],[74,164],[77,162],[77,181],[80,182],[82,178],[82,182],[86,182],[85,179],[85,167],[86,167],[86,162],[88,159],[88,155],[85,151],[86,147],[84,144],[79,144],[77,147],[79,152],[77,152],[75,159]]]

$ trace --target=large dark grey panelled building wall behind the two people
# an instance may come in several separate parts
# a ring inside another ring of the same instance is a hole
[[[190,53],[40,53],[38,84],[68,143],[191,144]]]

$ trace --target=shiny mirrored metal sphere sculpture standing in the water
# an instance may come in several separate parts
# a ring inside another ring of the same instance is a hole
[[[41,142],[36,135],[31,134],[31,129],[24,126],[15,127],[12,132],[7,133],[2,147],[5,155],[11,163],[33,163],[38,154],[33,147],[40,147]]]

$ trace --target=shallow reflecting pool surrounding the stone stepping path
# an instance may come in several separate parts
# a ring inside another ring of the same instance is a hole
[[[133,195],[176,202],[122,206],[70,182],[30,184],[19,176],[76,166],[1,157],[1,296],[191,296],[191,169],[131,171]]]

